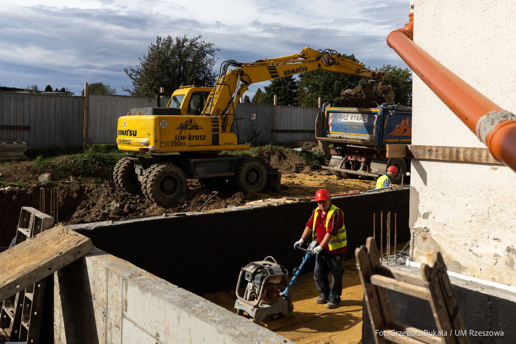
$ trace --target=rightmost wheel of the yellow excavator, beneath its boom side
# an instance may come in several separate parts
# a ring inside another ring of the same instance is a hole
[[[235,186],[243,193],[260,192],[267,181],[267,171],[260,161],[240,157],[235,167]]]

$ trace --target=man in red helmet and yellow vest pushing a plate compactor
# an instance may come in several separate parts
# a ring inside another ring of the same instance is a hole
[[[301,239],[296,241],[302,245],[310,234],[319,246],[312,251],[315,257],[314,279],[317,290],[321,295],[315,303],[326,303],[326,307],[336,308],[341,302],[342,275],[344,274],[344,254],[348,248],[344,213],[331,204],[328,190],[320,189],[315,194],[318,207],[312,212],[304,228]],[[328,282],[328,273],[331,272],[331,287]]]

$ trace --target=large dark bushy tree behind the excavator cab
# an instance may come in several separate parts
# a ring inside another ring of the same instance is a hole
[[[157,36],[156,42],[148,46],[147,55],[138,58],[140,64],[136,68],[124,68],[133,89],[122,89],[133,96],[152,97],[160,87],[174,91],[186,85],[213,86],[217,51],[215,44],[206,42],[201,35]]]

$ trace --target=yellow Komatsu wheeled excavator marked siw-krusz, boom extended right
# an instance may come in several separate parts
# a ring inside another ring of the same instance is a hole
[[[259,160],[219,155],[223,150],[251,148],[237,144],[232,127],[235,107],[250,84],[317,69],[373,81],[383,76],[333,50],[308,47],[299,54],[255,62],[224,61],[215,87],[180,87],[166,107],[133,108],[118,119],[118,148],[147,152],[149,157],[121,159],[113,172],[115,183],[128,193],[142,192],[160,206],[169,206],[183,195],[187,178],[199,179],[208,187],[230,180],[244,193],[262,191],[267,173]]]

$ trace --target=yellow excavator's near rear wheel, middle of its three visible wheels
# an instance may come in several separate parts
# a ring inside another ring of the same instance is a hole
[[[178,166],[155,165],[147,180],[149,198],[158,206],[173,204],[186,191],[186,176]]]

